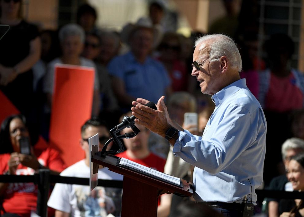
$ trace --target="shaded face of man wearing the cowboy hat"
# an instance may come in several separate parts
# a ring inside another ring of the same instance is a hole
[[[149,55],[153,44],[153,32],[151,29],[140,28],[136,30],[131,38],[130,44],[135,56],[146,57]]]

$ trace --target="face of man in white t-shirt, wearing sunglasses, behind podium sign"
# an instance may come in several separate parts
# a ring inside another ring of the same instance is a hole
[[[105,128],[104,126],[95,127],[90,125],[88,128],[85,129],[84,133],[82,133],[82,139],[80,140],[80,145],[86,153],[89,153],[89,142],[86,140],[92,137],[93,135],[96,135],[97,133],[99,138],[103,136],[108,138],[110,137],[107,128]],[[101,144],[101,142],[99,142],[98,150],[101,151],[104,145],[104,143]],[[111,149],[111,145],[108,145],[107,150],[109,149]]]

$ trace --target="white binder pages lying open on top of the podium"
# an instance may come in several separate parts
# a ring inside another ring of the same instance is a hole
[[[120,161],[119,161],[118,165],[136,170],[136,171],[138,171],[140,173],[143,173],[143,174],[146,174],[150,177],[154,177],[154,178],[157,178],[159,180],[166,181],[170,184],[182,187],[182,183],[181,183],[180,178],[168,175],[166,173],[159,172],[158,170],[152,169],[150,167],[143,166],[143,165],[141,165],[139,163],[136,163],[134,161],[131,161],[129,159],[120,158]]]

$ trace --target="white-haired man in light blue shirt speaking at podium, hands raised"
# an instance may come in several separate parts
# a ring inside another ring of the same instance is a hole
[[[194,199],[224,216],[252,216],[263,181],[266,119],[260,103],[240,79],[240,53],[225,35],[196,40],[192,76],[202,93],[215,103],[202,136],[192,135],[174,123],[162,96],[157,110],[146,99],[133,101],[135,122],[165,137],[173,153],[195,166]]]

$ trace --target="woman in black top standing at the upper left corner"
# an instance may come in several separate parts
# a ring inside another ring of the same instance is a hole
[[[40,58],[36,26],[21,17],[21,0],[0,0],[0,24],[10,26],[0,40],[0,90],[26,116],[33,107],[32,66]]]

